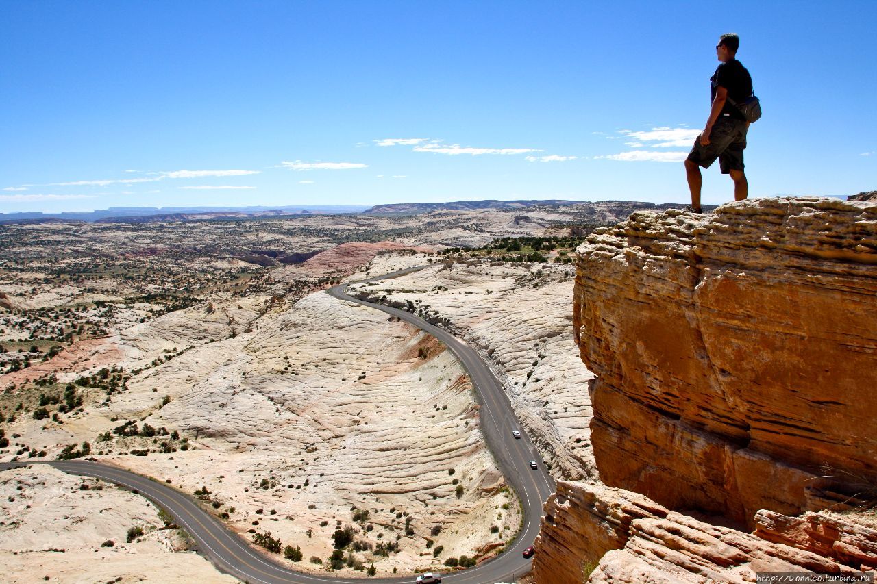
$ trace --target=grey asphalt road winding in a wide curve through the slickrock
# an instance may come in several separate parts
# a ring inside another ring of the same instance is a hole
[[[380,281],[422,269],[423,267],[400,270],[385,274],[368,281]],[[458,338],[447,331],[429,324],[415,315],[367,303],[346,294],[346,284],[327,290],[329,294],[347,302],[363,304],[382,310],[394,317],[417,326],[439,338],[460,360],[478,392],[481,401],[481,431],[488,447],[493,452],[506,480],[515,488],[524,510],[524,523],[518,538],[507,548],[506,552],[495,559],[469,568],[459,573],[442,576],[442,581],[449,584],[490,584],[493,582],[511,582],[517,576],[530,570],[529,559],[524,559],[521,552],[533,540],[539,530],[539,517],[542,502],[554,491],[551,476],[545,472],[544,465],[530,439],[522,431],[522,438],[515,439],[511,431],[518,429],[517,419],[503,387],[481,360],[474,350],[470,349]],[[538,461],[538,469],[531,469],[530,460]],[[376,582],[379,584],[397,584],[413,582],[415,576],[396,578],[335,578],[328,574],[307,574],[290,570],[276,563],[267,554],[256,551],[242,540],[236,533],[229,531],[223,523],[202,509],[190,496],[165,483],[153,481],[139,474],[103,465],[88,460],[69,460],[52,462],[21,461],[18,463],[0,463],[0,470],[30,464],[47,464],[65,473],[93,476],[104,481],[114,482],[127,488],[137,490],[140,495],[160,505],[174,517],[177,524],[189,532],[197,542],[199,552],[213,562],[219,570],[232,574],[240,580],[275,584],[293,582],[297,584],[316,584],[318,582]]]

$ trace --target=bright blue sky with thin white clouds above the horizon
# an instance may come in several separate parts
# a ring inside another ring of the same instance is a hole
[[[874,25],[874,0],[4,0],[0,211],[684,202],[722,32],[765,111],[751,196],[850,195],[877,189]]]

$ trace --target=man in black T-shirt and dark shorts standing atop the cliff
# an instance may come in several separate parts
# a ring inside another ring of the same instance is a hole
[[[685,160],[688,190],[691,191],[691,209],[695,213],[701,212],[700,167],[709,168],[716,159],[722,168],[722,174],[731,174],[731,180],[734,181],[734,200],[742,201],[749,194],[749,183],[746,182],[743,172],[743,150],[746,147],[749,123],[737,107],[731,104],[731,100],[734,103],[743,103],[747,97],[752,96],[752,77],[735,58],[739,46],[740,38],[736,34],[723,34],[718,39],[716,53],[722,64],[709,78],[712,108],[709,110],[707,125],[695,139],[695,146]]]

